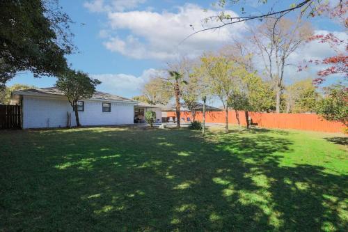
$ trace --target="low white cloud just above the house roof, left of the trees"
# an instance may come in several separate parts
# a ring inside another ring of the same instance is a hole
[[[144,70],[140,77],[126,74],[96,74],[90,75],[90,77],[99,79],[102,82],[97,87],[101,91],[132,98],[135,95],[140,95],[143,85],[151,77],[158,75],[159,72],[161,71],[150,68]]]

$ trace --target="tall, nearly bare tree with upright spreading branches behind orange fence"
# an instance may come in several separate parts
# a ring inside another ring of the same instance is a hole
[[[287,60],[312,34],[313,30],[308,23],[300,20],[292,22],[285,18],[267,19],[257,31],[253,31],[252,40],[258,47],[264,69],[274,84],[277,113],[280,113],[284,70],[287,65],[290,65]]]

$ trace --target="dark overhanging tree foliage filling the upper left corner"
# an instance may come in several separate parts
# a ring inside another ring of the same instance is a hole
[[[58,1],[0,1],[0,9],[0,87],[16,72],[52,76],[67,67],[71,20]]]

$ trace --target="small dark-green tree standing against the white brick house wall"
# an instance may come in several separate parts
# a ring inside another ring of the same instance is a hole
[[[77,126],[81,126],[77,101],[91,98],[95,93],[95,86],[100,83],[102,82],[98,79],[90,79],[85,72],[81,71],[65,70],[65,72],[58,75],[56,87],[63,91],[72,109],[74,109]]]

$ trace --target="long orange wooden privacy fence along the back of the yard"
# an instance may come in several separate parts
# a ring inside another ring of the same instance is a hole
[[[225,123],[224,111],[210,111],[205,114],[207,123]],[[175,112],[168,112],[168,117],[175,117]],[[317,114],[274,114],[249,112],[253,125],[266,128],[314,130],[320,132],[342,132],[345,125],[339,122],[326,121]],[[181,112],[180,118],[191,118],[190,112]],[[196,120],[202,121],[202,112],[196,113]],[[239,119],[242,125],[246,125],[244,111],[239,111]],[[228,111],[228,123],[237,124],[235,111]]]

